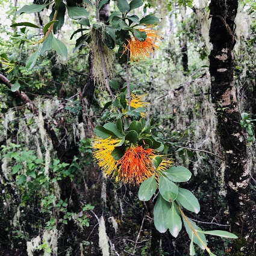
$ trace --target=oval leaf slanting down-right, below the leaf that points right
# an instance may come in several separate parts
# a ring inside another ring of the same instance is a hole
[[[198,199],[189,190],[179,187],[177,199],[187,210],[193,211],[193,213],[199,213],[200,205]]]

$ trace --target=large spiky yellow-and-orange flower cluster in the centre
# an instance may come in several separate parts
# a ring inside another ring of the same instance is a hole
[[[126,148],[122,158],[114,160],[111,152],[119,142],[120,140],[111,139],[111,137],[107,139],[95,137],[93,139],[92,148],[96,149],[93,152],[93,157],[105,175],[116,176],[116,181],[133,184],[140,184],[150,178],[155,172],[152,159],[157,151],[151,148],[145,149],[140,145],[133,145]],[[159,171],[166,170],[172,163],[168,158],[163,158],[157,169]],[[158,178],[157,173],[156,178]]]

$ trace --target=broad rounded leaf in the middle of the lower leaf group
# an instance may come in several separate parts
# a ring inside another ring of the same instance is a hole
[[[177,198],[179,188],[162,175],[159,179],[159,192],[166,201],[173,202]]]

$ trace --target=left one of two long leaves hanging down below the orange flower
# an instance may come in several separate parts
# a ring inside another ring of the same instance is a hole
[[[167,201],[165,201],[161,195],[158,195],[157,202],[154,207],[154,223],[155,228],[160,232],[164,233],[167,231],[167,220],[166,215],[170,207]]]

